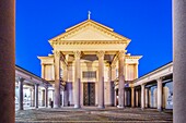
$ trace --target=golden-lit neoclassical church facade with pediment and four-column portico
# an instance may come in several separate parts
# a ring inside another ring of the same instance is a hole
[[[54,107],[124,107],[141,59],[127,52],[130,41],[90,19],[50,39],[53,54],[38,59],[42,77],[53,84]]]

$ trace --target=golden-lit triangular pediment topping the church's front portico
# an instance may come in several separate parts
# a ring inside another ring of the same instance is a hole
[[[68,29],[66,33],[50,39],[53,40],[125,40],[130,39],[115,33],[112,28],[96,23],[92,20],[86,20]]]

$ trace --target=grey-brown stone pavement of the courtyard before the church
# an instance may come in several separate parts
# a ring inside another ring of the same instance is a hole
[[[72,107],[51,109],[27,109],[15,111],[16,123],[172,123],[172,111],[159,112],[156,109],[108,107]]]

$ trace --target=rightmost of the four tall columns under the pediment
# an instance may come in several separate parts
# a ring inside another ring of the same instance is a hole
[[[125,107],[125,76],[124,76],[124,60],[125,60],[125,51],[119,51],[118,52],[118,69],[119,69],[119,84],[118,84],[118,88],[119,88],[119,104],[118,108],[124,108]]]

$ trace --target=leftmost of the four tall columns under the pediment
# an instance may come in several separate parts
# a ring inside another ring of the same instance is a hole
[[[54,108],[60,108],[60,51],[55,51],[55,99]]]

